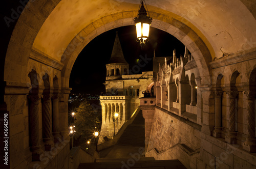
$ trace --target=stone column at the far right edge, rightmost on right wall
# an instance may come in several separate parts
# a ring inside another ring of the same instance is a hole
[[[244,91],[247,99],[247,137],[243,143],[243,149],[248,152],[256,152],[255,138],[255,93],[253,91]]]

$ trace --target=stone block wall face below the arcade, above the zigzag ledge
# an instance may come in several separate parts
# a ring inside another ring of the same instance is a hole
[[[193,150],[200,148],[201,127],[187,122],[189,121],[156,107],[147,151],[155,148],[160,152],[178,143]]]

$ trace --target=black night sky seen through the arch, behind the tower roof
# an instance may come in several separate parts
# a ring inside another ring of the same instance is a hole
[[[154,49],[156,57],[172,57],[173,50],[176,49],[176,56],[184,55],[184,45],[174,36],[150,28],[150,40],[141,49],[140,44],[136,42],[135,26],[123,26],[117,29],[105,32],[94,38],[78,55],[70,75],[71,93],[100,94],[105,93],[106,63],[110,60],[116,32],[122,46],[123,55],[129,68],[138,64],[140,55],[147,58],[153,58]],[[152,71],[152,61],[140,69],[142,71]],[[133,73],[133,74],[139,74]]]

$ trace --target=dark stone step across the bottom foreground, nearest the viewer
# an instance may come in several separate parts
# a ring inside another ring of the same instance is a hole
[[[110,159],[111,160],[111,159]],[[112,159],[113,160],[113,159]],[[109,162],[94,162],[94,163],[81,163],[78,169],[82,168],[108,168],[108,169],[120,169],[120,168],[144,168],[144,169],[167,169],[167,168],[179,168],[186,169],[185,166],[179,160],[138,160],[130,158],[120,161]]]

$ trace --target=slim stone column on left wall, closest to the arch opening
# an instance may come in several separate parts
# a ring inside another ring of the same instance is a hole
[[[52,120],[53,120],[53,129],[52,134],[54,137],[54,143],[59,142],[61,139],[59,135],[59,95],[54,94],[52,96]]]

